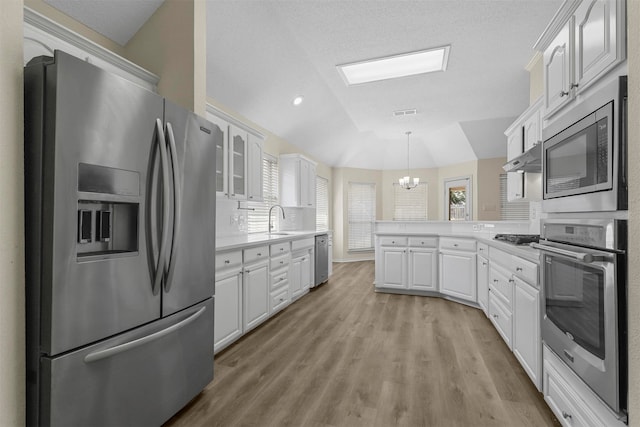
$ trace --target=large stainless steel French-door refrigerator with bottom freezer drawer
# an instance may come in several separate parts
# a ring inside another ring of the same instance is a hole
[[[24,77],[27,422],[159,425],[213,379],[222,133],[61,51]]]

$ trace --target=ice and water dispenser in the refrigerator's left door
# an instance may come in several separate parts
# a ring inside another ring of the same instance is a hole
[[[80,163],[78,191],[78,259],[137,252],[140,174]]]

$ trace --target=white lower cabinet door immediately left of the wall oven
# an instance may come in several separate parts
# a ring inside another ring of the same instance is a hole
[[[515,278],[513,298],[513,353],[538,390],[542,388],[540,292]]]

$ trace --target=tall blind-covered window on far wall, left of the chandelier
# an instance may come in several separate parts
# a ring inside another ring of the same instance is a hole
[[[349,183],[348,195],[350,251],[373,249],[373,228],[376,220],[376,185]]]

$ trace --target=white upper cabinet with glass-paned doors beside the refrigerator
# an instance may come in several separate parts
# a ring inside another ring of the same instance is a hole
[[[262,200],[264,140],[220,117],[223,113],[207,105],[207,120],[222,130],[216,144],[216,195],[235,200]]]

